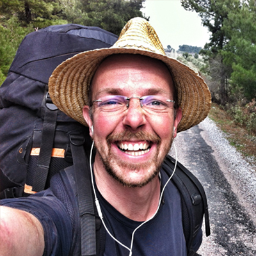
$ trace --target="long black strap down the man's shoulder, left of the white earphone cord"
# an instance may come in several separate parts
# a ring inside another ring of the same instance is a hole
[[[97,255],[96,218],[90,167],[84,152],[83,134],[70,134],[81,222],[81,255]]]

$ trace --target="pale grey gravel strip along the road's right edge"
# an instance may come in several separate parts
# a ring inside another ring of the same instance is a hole
[[[249,164],[236,148],[230,145],[225,138],[227,135],[210,118],[207,117],[199,127],[204,130],[202,137],[214,150],[213,154],[219,159],[218,164],[232,190],[256,225],[256,166]]]

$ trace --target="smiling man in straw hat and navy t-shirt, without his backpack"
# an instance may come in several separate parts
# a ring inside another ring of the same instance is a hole
[[[104,255],[187,255],[179,191],[161,164],[177,132],[207,116],[204,81],[166,57],[154,29],[136,18],[110,49],[77,54],[56,68],[49,92],[58,108],[90,128],[97,149],[92,184],[108,232]],[[1,255],[77,252],[75,195],[63,187],[67,203],[60,180],[52,180],[35,196],[3,200]],[[198,232],[195,251],[201,239]]]

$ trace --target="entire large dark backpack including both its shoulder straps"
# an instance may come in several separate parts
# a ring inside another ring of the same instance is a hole
[[[117,38],[103,29],[77,24],[50,26],[30,33],[20,44],[0,88],[0,198],[27,196],[46,189],[54,174],[74,166],[82,255],[102,252],[95,248],[95,230],[99,230],[100,224],[95,218],[92,191],[84,189],[91,188],[90,179],[80,168],[88,164],[91,139],[87,127],[52,104],[47,83],[62,61],[79,52],[110,47]],[[173,159],[167,157],[163,168],[168,175],[173,165]],[[206,234],[210,234],[204,189],[180,164],[173,182],[182,196],[188,255],[196,255],[191,244],[204,214]]]

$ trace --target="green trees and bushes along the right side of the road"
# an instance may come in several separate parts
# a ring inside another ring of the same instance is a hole
[[[181,0],[210,33],[200,51],[212,101],[256,134],[256,1]]]

